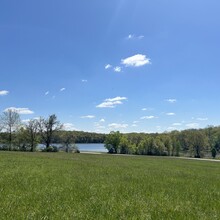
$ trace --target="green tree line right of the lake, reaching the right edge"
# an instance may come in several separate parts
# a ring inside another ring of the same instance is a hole
[[[189,129],[165,133],[129,133],[112,131],[106,137],[105,147],[109,153],[216,157],[220,151],[220,127]]]

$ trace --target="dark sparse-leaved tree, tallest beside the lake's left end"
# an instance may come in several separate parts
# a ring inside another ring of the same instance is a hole
[[[55,114],[50,115],[47,119],[40,118],[38,121],[39,132],[43,143],[46,145],[46,150],[49,149],[54,132],[62,129],[62,125],[57,120]]]

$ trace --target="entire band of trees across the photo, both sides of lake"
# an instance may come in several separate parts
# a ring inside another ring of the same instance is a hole
[[[0,115],[0,150],[33,152],[38,144],[43,144],[44,151],[57,151],[52,145],[61,144],[68,152],[74,143],[105,143],[109,153],[198,158],[211,154],[215,158],[220,151],[220,127],[152,134],[121,134],[119,131],[98,134],[65,131],[55,114],[26,123],[11,109]]]

